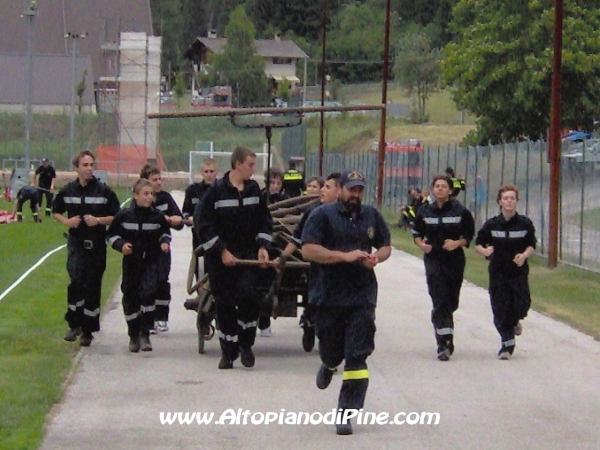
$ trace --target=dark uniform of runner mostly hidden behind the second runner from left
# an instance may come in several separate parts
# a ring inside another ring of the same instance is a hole
[[[161,213],[166,216],[182,216],[181,210],[175,200],[166,191],[160,191],[156,193],[154,198],[154,205]],[[177,227],[172,227],[175,230],[181,230],[183,223]],[[158,290],[156,291],[156,315],[157,321],[168,321],[169,320],[169,305],[171,304],[171,283],[169,283],[169,274],[171,273],[171,252],[161,252],[159,256],[160,260],[160,281]]]

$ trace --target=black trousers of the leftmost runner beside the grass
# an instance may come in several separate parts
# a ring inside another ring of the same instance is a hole
[[[67,252],[67,272],[71,282],[67,288],[65,320],[69,328],[81,328],[83,334],[89,335],[100,330],[106,244],[104,241],[84,241],[69,236]]]

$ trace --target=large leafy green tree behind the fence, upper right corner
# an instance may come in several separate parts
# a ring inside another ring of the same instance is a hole
[[[600,104],[597,0],[565,2],[562,126],[591,129]],[[471,143],[545,135],[550,118],[551,0],[461,0],[442,78],[460,109],[477,116]]]

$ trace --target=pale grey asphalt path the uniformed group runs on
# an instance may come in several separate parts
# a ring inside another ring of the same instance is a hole
[[[181,193],[175,197],[180,201]],[[530,312],[513,358],[500,361],[487,292],[465,282],[455,314],[456,351],[440,362],[423,262],[399,251],[376,269],[376,349],[368,359],[365,411],[390,418],[438,413],[439,423],[355,422],[352,436],[336,436],[324,423],[252,425],[261,413],[330,413],[341,376],[317,389],[318,352],[303,351],[297,318],[278,318],[272,337],[257,337],[254,368],[238,360],[233,370],[218,370],[216,338],[199,355],[195,315],[183,308],[190,250],[190,230],[174,232],[170,331],[152,336],[154,351],[128,352],[120,292],[112,297],[102,331],[79,353],[64,398],[50,414],[42,450],[598,448],[599,342]],[[214,423],[239,409],[248,411],[248,424]],[[161,412],[212,412],[214,419],[162,425]]]

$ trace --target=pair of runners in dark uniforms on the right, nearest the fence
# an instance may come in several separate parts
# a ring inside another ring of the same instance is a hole
[[[433,302],[431,322],[437,357],[448,361],[454,353],[453,314],[458,309],[465,270],[465,253],[475,237],[471,212],[456,195],[464,190],[452,178],[453,171],[433,179],[434,200],[418,209],[411,231],[415,244],[424,253],[425,274]],[[499,189],[500,214],[486,221],[477,233],[475,250],[490,260],[489,294],[494,325],[501,338],[498,358],[510,359],[515,336],[522,332],[520,321],[531,306],[527,258],[535,253],[535,228],[518,214],[519,190],[514,185]]]

